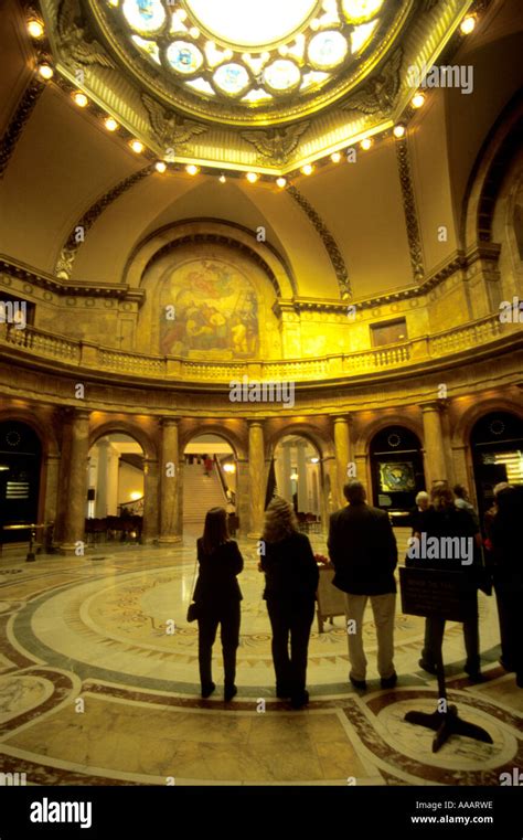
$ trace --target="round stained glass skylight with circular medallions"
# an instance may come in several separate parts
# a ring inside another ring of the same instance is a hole
[[[238,107],[309,96],[375,45],[391,0],[105,0],[173,87]]]

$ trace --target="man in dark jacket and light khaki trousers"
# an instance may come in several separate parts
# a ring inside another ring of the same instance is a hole
[[[335,570],[334,586],[345,593],[349,638],[349,679],[365,689],[366,659],[363,651],[363,614],[371,599],[377,634],[377,670],[382,688],[394,688],[394,618],[396,610],[396,538],[385,511],[366,504],[361,481],[343,488],[349,507],[331,515],[329,555]]]

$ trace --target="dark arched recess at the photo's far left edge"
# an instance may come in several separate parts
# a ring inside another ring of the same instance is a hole
[[[42,444],[34,429],[20,421],[0,423],[2,543],[29,541],[29,529],[10,530],[9,525],[39,524],[41,468]]]

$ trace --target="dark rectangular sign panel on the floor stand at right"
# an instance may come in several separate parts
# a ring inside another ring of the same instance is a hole
[[[401,568],[402,609],[406,615],[436,616],[465,621],[473,615],[476,598],[465,572]]]

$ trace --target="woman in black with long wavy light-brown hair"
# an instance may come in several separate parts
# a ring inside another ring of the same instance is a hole
[[[309,700],[307,652],[314,617],[319,572],[309,538],[298,531],[291,506],[276,497],[266,512],[262,538],[265,554],[264,598],[273,628],[276,694],[290,698],[295,709]],[[290,637],[290,656],[289,656]]]

